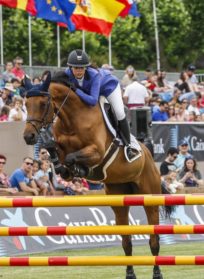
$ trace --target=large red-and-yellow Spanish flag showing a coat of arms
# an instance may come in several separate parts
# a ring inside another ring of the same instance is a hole
[[[76,29],[109,36],[120,12],[128,5],[126,0],[70,0],[77,3],[71,16]]]

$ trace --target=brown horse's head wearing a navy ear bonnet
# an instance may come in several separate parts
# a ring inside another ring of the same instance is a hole
[[[48,73],[47,78],[42,84],[32,85],[26,75],[24,82],[28,89],[26,94],[28,100],[25,102],[28,117],[23,135],[25,142],[33,145],[37,143],[38,135],[44,131],[54,115],[54,107],[49,92],[51,73]]]

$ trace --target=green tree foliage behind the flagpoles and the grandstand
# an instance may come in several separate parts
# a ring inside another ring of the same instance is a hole
[[[204,5],[200,0],[156,0],[161,66],[167,71],[180,71],[189,63],[203,67]],[[4,60],[16,56],[29,64],[28,13],[3,9]],[[123,69],[132,64],[136,69],[156,69],[155,30],[152,0],[138,4],[140,18],[118,17],[113,25],[112,64]],[[32,18],[33,65],[57,65],[56,22]],[[108,63],[108,37],[85,32],[86,51],[90,60],[101,66]],[[82,32],[70,33],[60,28],[61,65],[66,66],[69,53],[82,48]]]

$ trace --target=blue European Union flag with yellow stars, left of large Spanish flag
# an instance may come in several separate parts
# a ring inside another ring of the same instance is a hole
[[[59,21],[67,24],[69,31],[75,30],[75,24],[71,21],[76,4],[69,0],[35,0],[35,7],[38,11],[35,17],[45,20]]]

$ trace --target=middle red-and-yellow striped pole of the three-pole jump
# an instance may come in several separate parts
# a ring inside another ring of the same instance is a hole
[[[0,236],[204,234],[204,225],[0,227]]]

